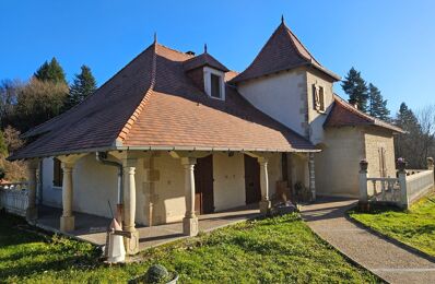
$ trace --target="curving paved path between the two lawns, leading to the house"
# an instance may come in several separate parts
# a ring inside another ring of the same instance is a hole
[[[345,218],[354,200],[320,199],[302,216],[322,239],[390,283],[435,283],[435,263],[393,245]]]

